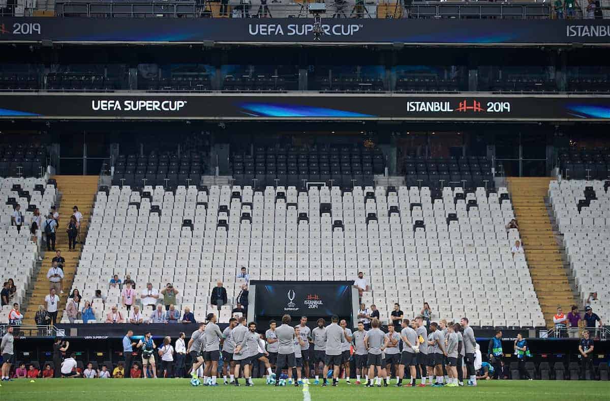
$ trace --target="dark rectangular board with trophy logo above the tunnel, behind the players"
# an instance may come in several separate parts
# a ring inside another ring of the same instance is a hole
[[[351,283],[338,281],[252,281],[256,314],[262,317],[352,315]]]

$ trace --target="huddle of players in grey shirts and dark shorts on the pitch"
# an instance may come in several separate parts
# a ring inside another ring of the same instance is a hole
[[[307,327],[306,316],[295,327],[290,322],[289,315],[282,317],[279,327],[271,320],[269,330],[262,336],[256,331],[256,322],[247,323],[245,317],[232,318],[229,326],[221,331],[216,315],[210,313],[207,322],[199,323],[199,329],[193,331],[188,341],[193,380],[198,381],[198,371],[203,367],[203,385],[217,386],[218,361],[222,356],[225,385],[240,386],[243,369],[245,385],[253,386],[252,366],[257,363],[264,364],[267,383],[276,386],[280,385],[284,369],[289,385],[318,385],[321,377],[322,386],[327,386],[327,377],[332,376],[332,386],[337,386],[342,369],[346,383],[351,384],[353,347],[356,385],[362,384],[362,378],[367,387],[387,387],[393,374],[395,386],[401,387],[407,368],[411,379],[406,387],[463,386],[462,366],[465,365],[467,385],[476,386],[476,340],[465,317],[460,323],[431,322],[429,331],[422,317],[404,319],[400,322],[400,332],[390,323],[387,333],[381,330],[378,319],[371,320],[368,330],[360,321],[354,331],[347,328],[346,320],[339,321],[337,316],[332,316],[329,325],[324,319],[318,319],[314,330]],[[310,345],[314,346],[312,359]],[[309,383],[310,367],[315,377],[313,383]],[[415,383],[418,373],[420,384]]]

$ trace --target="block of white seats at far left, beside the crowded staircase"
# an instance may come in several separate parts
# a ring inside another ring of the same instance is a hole
[[[45,180],[41,178],[0,178],[0,199],[4,204],[0,216],[0,233],[2,233],[2,255],[5,255],[0,262],[2,270],[0,280],[2,283],[9,278],[15,281],[17,292],[12,302],[21,305],[25,300],[39,255],[37,245],[30,240],[29,226],[32,223],[32,216],[37,208],[41,213],[49,211],[56,200],[56,189],[53,184],[45,184]],[[16,204],[21,206],[24,217],[20,232],[11,225],[10,220]],[[2,308],[0,323],[8,322],[8,312],[12,308],[12,302],[11,305]]]

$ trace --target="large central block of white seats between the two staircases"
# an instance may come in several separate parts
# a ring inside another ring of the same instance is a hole
[[[373,287],[362,302],[375,302],[386,320],[396,301],[409,315],[426,300],[458,318],[476,299],[473,324],[544,325],[525,258],[511,255],[519,233],[505,227],[514,217],[508,192],[498,193],[465,197],[447,187],[432,200],[427,187],[101,188],[74,287],[85,299],[101,289],[107,312],[119,303],[118,289],[108,289],[113,274],[131,274],[137,290],[173,283],[179,309],[201,318],[216,309],[207,299],[217,280],[229,299],[237,295],[241,267],[251,280],[351,280],[362,271]],[[435,293],[439,284],[459,298]],[[501,305],[489,301],[496,294]]]

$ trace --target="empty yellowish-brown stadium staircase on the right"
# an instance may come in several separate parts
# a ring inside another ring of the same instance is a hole
[[[545,204],[550,180],[550,177],[508,179],[529,273],[547,327],[553,326],[558,306],[567,313],[571,305],[578,305]]]

